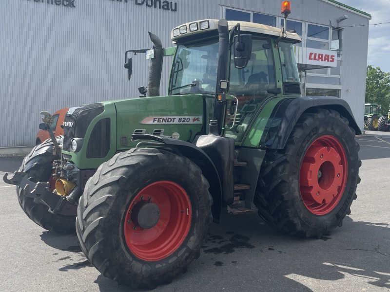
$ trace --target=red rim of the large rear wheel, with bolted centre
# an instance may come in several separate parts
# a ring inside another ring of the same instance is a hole
[[[344,147],[333,136],[321,136],[305,153],[299,184],[305,206],[315,215],[331,212],[347,183],[348,163]]]

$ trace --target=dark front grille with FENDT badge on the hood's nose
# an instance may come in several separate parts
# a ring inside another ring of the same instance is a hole
[[[72,114],[66,114],[64,122],[73,123],[72,127],[64,127],[64,145],[65,151],[70,151],[70,145],[73,138],[84,138],[87,128],[93,118],[104,111],[102,104],[90,104],[73,111]],[[69,124],[68,124],[69,125]]]

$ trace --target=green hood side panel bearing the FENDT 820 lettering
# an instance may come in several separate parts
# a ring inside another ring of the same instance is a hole
[[[131,141],[136,130],[145,134],[162,132],[169,137],[174,134],[180,140],[192,142],[205,124],[202,94],[142,97],[114,103],[118,150],[137,145],[139,141]]]

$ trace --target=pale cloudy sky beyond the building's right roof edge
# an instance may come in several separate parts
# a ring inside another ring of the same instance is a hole
[[[390,22],[389,0],[338,0],[353,8],[369,13],[370,24]],[[345,21],[346,22],[346,21]],[[340,23],[340,26],[343,24]],[[346,24],[347,25],[347,24]],[[346,28],[358,29],[358,28]],[[367,64],[390,72],[390,24],[370,26]]]

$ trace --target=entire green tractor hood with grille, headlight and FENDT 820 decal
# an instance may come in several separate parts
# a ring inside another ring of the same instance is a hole
[[[81,169],[97,168],[117,151],[135,147],[139,141],[132,140],[134,133],[192,142],[195,135],[208,131],[214,98],[205,94],[155,96],[71,108],[64,119],[64,158]]]

